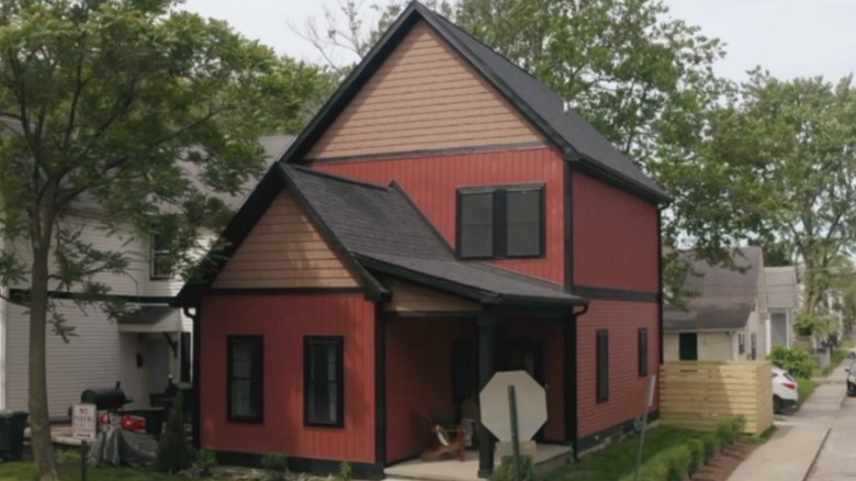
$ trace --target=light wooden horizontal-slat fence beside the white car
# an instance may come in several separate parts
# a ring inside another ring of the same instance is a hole
[[[675,361],[660,368],[660,418],[690,429],[716,429],[743,416],[744,430],[773,425],[773,366],[769,361]]]

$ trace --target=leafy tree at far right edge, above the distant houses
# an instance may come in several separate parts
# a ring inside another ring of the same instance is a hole
[[[713,119],[709,166],[754,231],[791,249],[814,315],[856,242],[856,89],[851,77],[782,81],[755,70]]]

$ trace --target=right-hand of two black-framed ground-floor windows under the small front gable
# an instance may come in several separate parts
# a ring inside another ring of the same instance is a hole
[[[311,426],[343,425],[343,338],[308,336],[304,342],[305,422]]]

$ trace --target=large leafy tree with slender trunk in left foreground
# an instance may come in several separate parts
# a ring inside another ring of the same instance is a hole
[[[97,277],[121,251],[68,221],[95,205],[108,235],[171,235],[185,251],[223,219],[212,191],[235,193],[261,169],[259,135],[297,128],[301,97],[323,72],[278,58],[228,25],[172,0],[9,0],[0,5],[0,282],[29,288],[30,420],[41,480],[57,479],[47,412],[45,336],[74,326],[66,291],[121,313]],[[303,116],[301,116],[303,115]],[[297,118],[297,120],[292,120]]]

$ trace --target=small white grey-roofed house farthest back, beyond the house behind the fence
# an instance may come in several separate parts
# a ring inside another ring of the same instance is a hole
[[[793,266],[767,267],[767,298],[769,300],[770,347],[793,345],[793,318],[799,311],[797,268]]]

